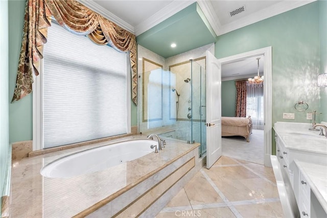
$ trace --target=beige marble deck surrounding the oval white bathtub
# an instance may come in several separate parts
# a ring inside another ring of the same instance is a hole
[[[153,175],[199,146],[199,143],[186,144],[166,140],[166,148],[156,154],[152,152],[139,159],[102,171],[73,178],[46,178],[40,175],[40,169],[44,165],[60,157],[90,147],[133,139],[146,139],[146,136],[128,136],[13,161],[11,216],[72,217],[87,208],[98,208],[100,201],[115,198],[130,186],[144,181],[146,175]]]

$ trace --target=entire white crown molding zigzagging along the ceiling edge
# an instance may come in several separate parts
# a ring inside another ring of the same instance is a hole
[[[175,13],[179,12],[180,10],[188,7],[189,5],[197,2],[200,6],[201,10],[203,11],[205,17],[207,18],[209,24],[215,31],[216,35],[222,35],[233,30],[237,30],[239,28],[248,26],[250,24],[254,24],[258,21],[267,19],[269,17],[275,16],[280,13],[284,13],[286,11],[292,10],[294,8],[298,8],[300,6],[315,2],[316,0],[297,0],[297,1],[283,1],[276,5],[272,5],[269,8],[260,10],[256,13],[252,13],[242,19],[235,20],[227,25],[221,25],[218,19],[218,16],[211,4],[210,1],[203,1],[203,0],[191,0],[191,1],[178,1],[174,0],[172,3],[167,5],[166,7],[162,8],[160,11],[153,14],[148,19],[144,20],[142,23],[138,24],[137,26],[133,27],[128,24],[123,19],[119,18],[118,16],[114,15],[107,9],[101,7],[99,4],[95,3],[92,0],[77,0],[81,4],[85,5],[89,9],[99,13],[100,15],[104,16],[105,18],[111,20],[116,25],[124,28],[125,30],[135,34],[136,36],[144,33],[145,31],[151,29],[152,27],[156,26],[160,22],[164,21],[165,19],[169,18],[170,16],[174,15]]]

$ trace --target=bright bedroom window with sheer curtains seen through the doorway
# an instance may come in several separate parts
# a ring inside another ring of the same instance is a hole
[[[264,129],[264,88],[247,84],[246,116],[251,116],[254,129]]]

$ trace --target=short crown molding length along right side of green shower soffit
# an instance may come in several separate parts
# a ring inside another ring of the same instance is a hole
[[[197,3],[200,6],[202,12],[204,13],[206,19],[208,20],[209,24],[215,31],[216,35],[218,36],[220,33],[221,24],[214,10],[214,7],[211,4],[211,1],[199,0],[197,1]]]

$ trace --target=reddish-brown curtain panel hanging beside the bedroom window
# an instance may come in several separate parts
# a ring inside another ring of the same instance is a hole
[[[246,116],[246,81],[236,81],[236,117]]]

